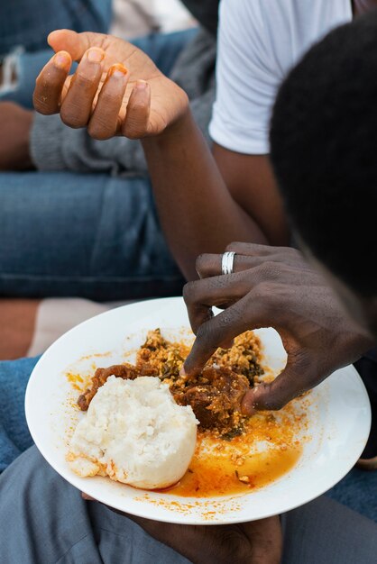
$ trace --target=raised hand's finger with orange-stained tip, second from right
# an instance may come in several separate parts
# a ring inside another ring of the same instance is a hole
[[[109,68],[87,128],[89,135],[94,139],[110,139],[119,131],[119,112],[128,77],[127,69],[121,64]]]

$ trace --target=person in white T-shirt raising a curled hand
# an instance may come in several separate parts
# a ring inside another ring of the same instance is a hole
[[[160,86],[170,101],[170,112],[159,116],[157,129],[153,120],[151,129],[129,131],[126,124],[121,128],[129,87],[125,91],[117,129],[95,129],[96,121],[107,119],[101,104],[90,116],[90,122],[88,114],[82,113],[82,108],[69,108],[67,98],[61,110],[57,100],[46,108],[39,105],[37,98],[37,107],[44,114],[60,110],[64,123],[75,127],[88,126],[89,133],[97,139],[106,139],[115,132],[131,138],[145,137],[143,149],[152,177],[153,197],[164,241],[167,241],[184,277],[195,279],[194,264],[198,254],[220,252],[230,241],[290,244],[290,229],[268,155],[268,123],[276,90],[290,67],[313,41],[337,24],[351,21],[354,16],[370,11],[376,5],[375,0],[336,0],[331,5],[321,0],[310,6],[296,2],[287,5],[278,3],[271,10],[270,6],[259,1],[249,3],[243,0],[234,5],[225,0],[220,10],[217,94],[210,124],[215,141],[213,155],[203,142],[192,115],[186,112],[184,94],[178,90],[174,93],[168,82],[160,81]],[[261,19],[262,26],[258,25]],[[98,37],[90,37],[85,40],[88,41],[86,47],[100,46]],[[50,38],[54,50],[68,50],[73,59],[80,59],[84,52],[80,47],[81,41],[84,38],[73,39],[66,32],[53,33]],[[109,68],[115,60],[123,60],[127,65],[128,53],[125,44],[114,43],[104,61],[105,68]],[[130,85],[134,84],[134,76],[142,76],[137,70],[142,61],[144,64],[145,59],[133,59],[130,63],[127,75]],[[67,65],[69,62],[70,59],[66,59]],[[47,68],[51,70],[53,62]],[[81,69],[85,72],[84,60],[81,61]],[[67,76],[68,72],[67,67],[63,75]],[[58,86],[59,78],[55,74],[51,78],[51,86],[61,88],[63,75]],[[148,78],[148,72],[143,77]],[[157,81],[153,82],[153,88],[155,84]],[[79,96],[77,83],[70,94]],[[155,110],[159,112],[161,109],[153,105],[153,97],[151,107],[152,118]],[[128,113],[130,109],[131,106]],[[174,123],[174,127],[167,127],[162,132],[167,123]],[[156,133],[159,135],[156,136]],[[189,148],[186,151],[182,151],[181,144],[177,142],[183,136]],[[170,159],[173,158],[177,168],[170,174]],[[372,398],[373,432],[377,433],[376,353],[375,350],[365,353],[358,368]],[[370,443],[364,454],[366,459],[370,459],[370,468],[375,464],[376,454]]]

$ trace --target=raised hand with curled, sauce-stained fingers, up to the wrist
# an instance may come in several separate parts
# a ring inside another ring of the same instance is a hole
[[[188,97],[128,41],[102,33],[51,32],[56,54],[42,68],[33,95],[41,114],[58,114],[95,139],[140,139],[164,132],[188,107]],[[72,61],[78,61],[69,76]]]

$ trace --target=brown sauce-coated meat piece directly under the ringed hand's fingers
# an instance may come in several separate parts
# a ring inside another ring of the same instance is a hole
[[[241,402],[249,380],[229,368],[204,368],[193,385],[176,392],[179,405],[191,405],[203,429],[229,431],[242,421]]]

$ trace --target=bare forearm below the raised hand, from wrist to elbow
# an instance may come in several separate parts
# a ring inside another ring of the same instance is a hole
[[[167,132],[143,140],[143,149],[162,230],[185,277],[198,277],[198,254],[222,252],[231,241],[267,243],[227,190],[189,112]]]

